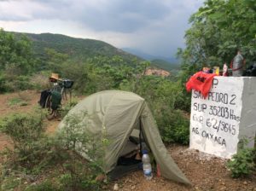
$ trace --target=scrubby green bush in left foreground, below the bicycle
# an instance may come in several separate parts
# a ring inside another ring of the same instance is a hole
[[[32,170],[44,166],[44,159],[51,152],[49,139],[44,136],[44,113],[12,114],[2,120],[1,130],[12,139],[14,151],[10,163]]]

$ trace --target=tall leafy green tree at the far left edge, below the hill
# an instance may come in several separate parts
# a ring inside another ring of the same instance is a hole
[[[0,90],[27,90],[34,57],[32,44],[25,35],[16,37],[0,29]]]

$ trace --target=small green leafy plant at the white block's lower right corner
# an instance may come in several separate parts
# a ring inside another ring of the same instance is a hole
[[[248,177],[256,171],[256,148],[245,148],[245,144],[227,163],[232,177]]]

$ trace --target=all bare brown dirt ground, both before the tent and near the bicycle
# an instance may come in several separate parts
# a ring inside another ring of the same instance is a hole
[[[19,93],[0,95],[0,117],[10,113],[29,113],[38,104],[39,92],[27,90]],[[25,101],[26,104],[12,104],[15,99]],[[58,120],[46,121],[49,133],[55,131],[60,123]],[[5,147],[12,147],[8,136],[0,133],[0,151]],[[118,184],[119,190],[136,191],[169,191],[169,190],[253,190],[256,191],[256,175],[247,179],[233,179],[230,171],[225,167],[226,160],[191,150],[188,147],[170,145],[166,146],[179,168],[192,182],[191,187],[156,177],[150,181],[145,180],[143,171],[137,171],[120,178],[116,182],[103,186],[104,190],[113,190]]]

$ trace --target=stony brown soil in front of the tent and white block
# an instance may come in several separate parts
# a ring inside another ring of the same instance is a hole
[[[188,147],[170,145],[166,147],[177,165],[192,182],[191,187],[156,177],[145,180],[143,171],[137,171],[121,178],[117,183],[119,190],[167,191],[167,190],[253,190],[256,191],[256,175],[249,178],[234,179],[226,169],[227,160]],[[113,185],[114,185],[113,183]],[[108,190],[113,190],[108,188]]]

